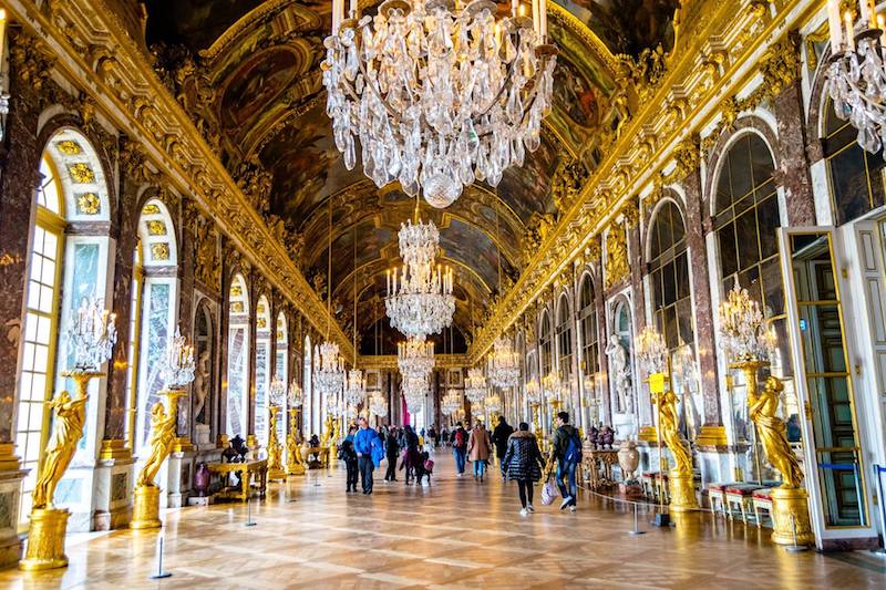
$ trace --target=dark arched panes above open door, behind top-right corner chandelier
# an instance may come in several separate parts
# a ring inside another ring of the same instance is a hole
[[[825,105],[824,157],[831,179],[831,201],[837,225],[865,215],[884,204],[883,151],[870,154],[857,143],[858,132]]]

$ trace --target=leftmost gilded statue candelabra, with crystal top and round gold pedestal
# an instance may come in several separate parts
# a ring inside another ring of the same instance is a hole
[[[52,410],[52,434],[37,476],[32,496],[28,546],[19,562],[22,570],[45,570],[68,566],[64,537],[70,513],[53,504],[55,487],[71,464],[76,445],[83,436],[89,402],[89,383],[103,376],[97,369],[111,358],[116,342],[114,314],[102,309],[101,300],[84,299],[66,331],[68,345],[74,354],[74,369],[62,373],[73,380],[74,396],[60,392],[48,402]]]

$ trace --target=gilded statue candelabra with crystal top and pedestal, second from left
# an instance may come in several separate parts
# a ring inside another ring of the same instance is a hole
[[[132,529],[159,528],[159,486],[154,482],[176,442],[178,426],[178,398],[186,395],[185,387],[194,381],[194,348],[187,345],[185,338],[175,330],[169,338],[166,353],[162,361],[161,377],[166,386],[161,395],[166,404],[156,402],[151,407],[150,452],[138,476],[135,479],[135,499]]]

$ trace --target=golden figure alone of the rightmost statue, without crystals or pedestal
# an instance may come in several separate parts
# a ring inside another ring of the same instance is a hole
[[[783,488],[799,488],[803,482],[803,472],[796,460],[794,451],[787,442],[787,428],[784,421],[776,415],[779,401],[784,391],[781,380],[770,376],[763,393],[750,394],[748,407],[751,420],[756,424],[756,434],[763,443],[763,451],[772,466],[782,474]]]

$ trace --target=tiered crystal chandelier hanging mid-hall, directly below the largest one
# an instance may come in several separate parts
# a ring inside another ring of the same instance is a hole
[[[418,211],[418,209],[416,209]],[[451,268],[434,267],[440,234],[432,221],[406,221],[399,232],[402,270],[388,271],[384,306],[391,325],[406,338],[424,340],[452,323],[455,297]]]

